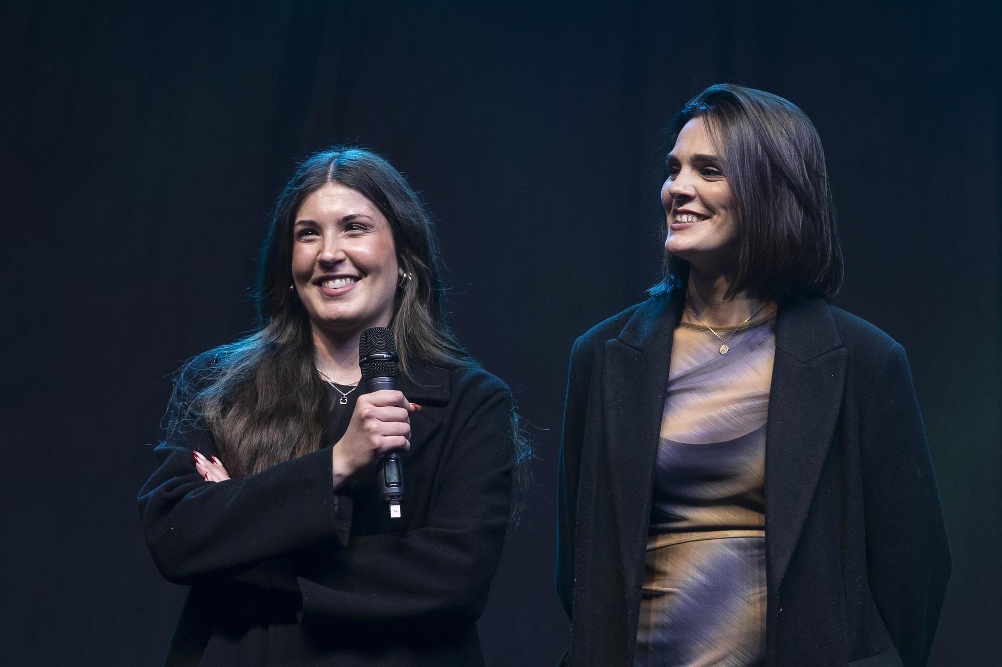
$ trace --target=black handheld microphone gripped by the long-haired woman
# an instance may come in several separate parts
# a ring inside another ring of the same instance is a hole
[[[373,326],[359,339],[359,367],[365,393],[397,389],[397,344],[386,326]],[[377,486],[379,500],[390,505],[390,518],[400,519],[404,500],[404,467],[400,455],[392,452],[379,464]]]

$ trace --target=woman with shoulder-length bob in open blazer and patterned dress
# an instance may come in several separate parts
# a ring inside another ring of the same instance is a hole
[[[673,120],[664,279],[571,353],[565,665],[923,665],[950,554],[904,350],[828,303],[820,138],[707,88]]]

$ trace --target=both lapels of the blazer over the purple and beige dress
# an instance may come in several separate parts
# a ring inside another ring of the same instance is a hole
[[[650,495],[667,389],[672,332],[682,294],[643,302],[605,342],[603,440],[610,501],[626,573],[639,596]],[[766,432],[767,582],[771,615],[803,530],[842,404],[847,354],[821,298],[781,305]],[[638,512],[638,508],[644,508]],[[630,600],[631,606],[634,601]],[[638,600],[635,601],[638,604]]]

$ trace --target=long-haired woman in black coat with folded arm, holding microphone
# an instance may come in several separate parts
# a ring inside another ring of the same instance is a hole
[[[262,327],[178,376],[139,496],[191,586],[168,665],[482,665],[475,622],[522,441],[511,395],[443,321],[431,220],[381,157],[307,159],[263,252]],[[359,338],[390,326],[399,391],[362,394]],[[406,453],[403,516],[376,463]]]

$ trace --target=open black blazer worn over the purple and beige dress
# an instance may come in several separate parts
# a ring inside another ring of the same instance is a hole
[[[564,664],[631,666],[680,297],[578,339],[560,450]],[[905,352],[822,299],[781,306],[766,436],[771,667],[923,665],[950,552]]]

